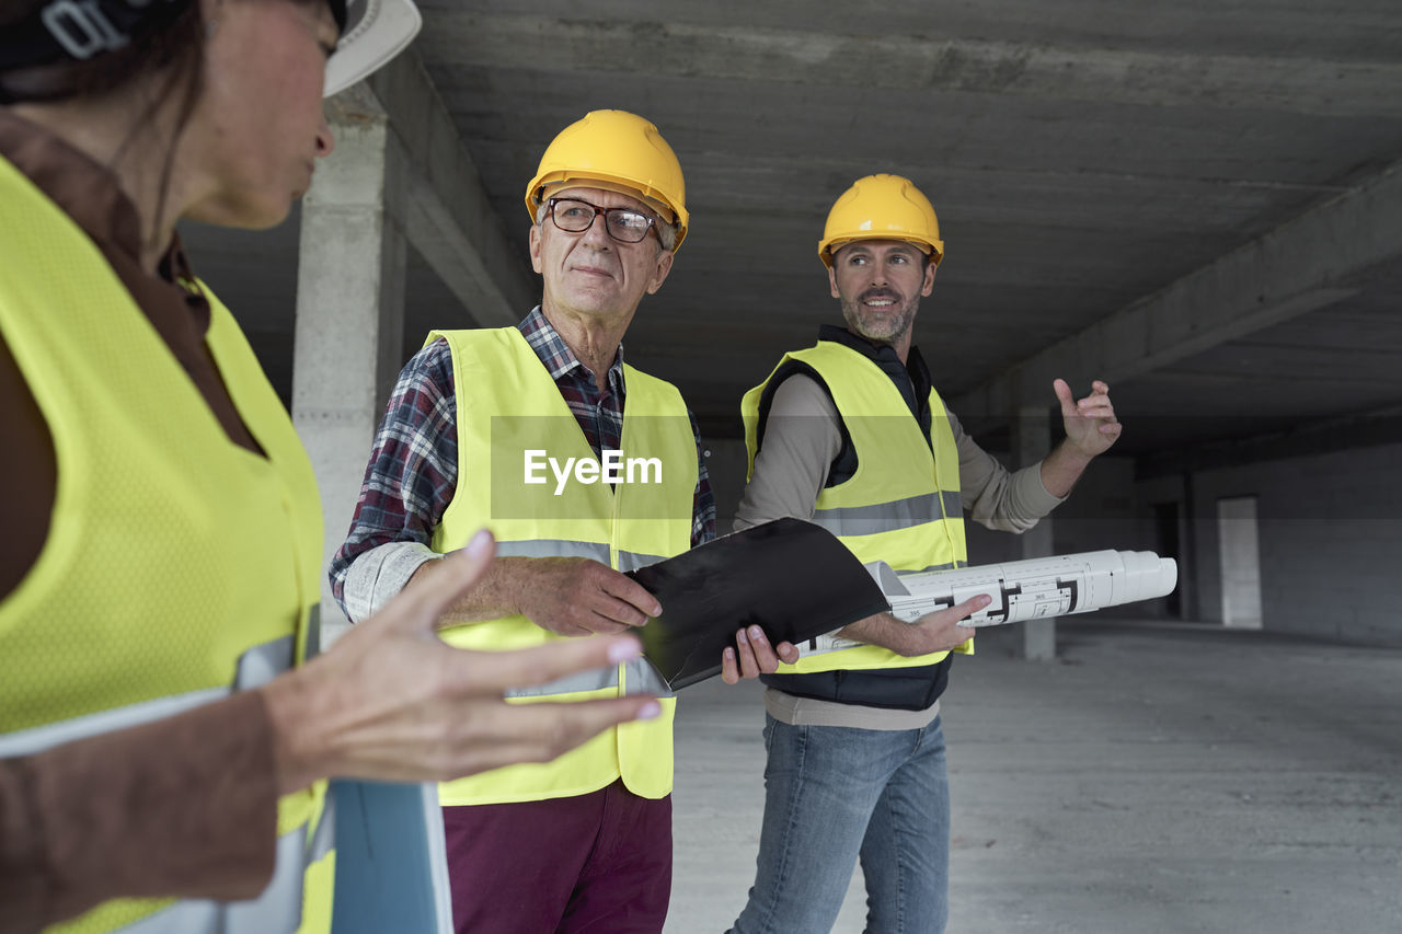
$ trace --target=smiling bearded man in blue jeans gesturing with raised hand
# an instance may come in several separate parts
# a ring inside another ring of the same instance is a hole
[[[1030,529],[1071,491],[1120,425],[1109,387],[1073,402],[1056,380],[1067,440],[1016,474],[949,414],[911,346],[920,300],[944,258],[939,222],[910,180],[858,180],[827,216],[819,257],[847,328],[785,355],[740,404],[750,484],[736,529],[794,516],[862,561],[897,572],[967,564],[963,509]],[[906,624],[859,620],[763,677],[764,827],[736,934],[831,928],[861,858],[868,931],[938,934],[948,913],[949,783],[939,696],[960,618],[979,596]]]

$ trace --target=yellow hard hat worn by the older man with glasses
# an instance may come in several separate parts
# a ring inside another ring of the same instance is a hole
[[[586,185],[638,198],[677,224],[677,243],[687,236],[687,184],[681,163],[658,128],[628,111],[590,111],[559,130],[540,157],[526,187],[526,210],[534,223],[548,185]]]

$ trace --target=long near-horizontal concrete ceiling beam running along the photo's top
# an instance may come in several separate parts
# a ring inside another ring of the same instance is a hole
[[[435,62],[1042,100],[1402,115],[1402,65],[433,10]],[[873,66],[879,63],[879,66]]]

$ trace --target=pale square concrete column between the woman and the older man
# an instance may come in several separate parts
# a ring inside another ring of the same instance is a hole
[[[328,107],[336,147],[301,203],[292,415],[325,512],[324,641],[343,631],[325,567],[345,540],[402,365],[404,160],[383,111]]]

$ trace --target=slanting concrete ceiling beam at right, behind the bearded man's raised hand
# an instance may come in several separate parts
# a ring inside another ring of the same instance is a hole
[[[1057,376],[1109,383],[1353,296],[1402,255],[1402,163],[1286,222],[1168,287],[1074,334],[955,400],[1004,417],[1052,400]]]

